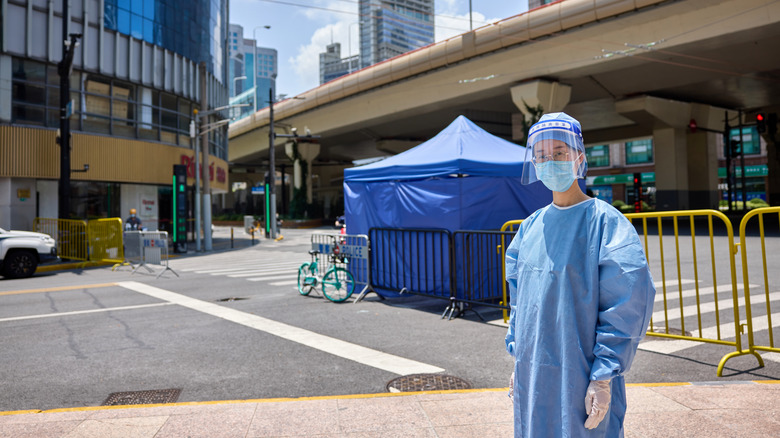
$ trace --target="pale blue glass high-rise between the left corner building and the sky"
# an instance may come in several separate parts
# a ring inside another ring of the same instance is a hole
[[[230,104],[246,104],[236,108],[236,119],[268,106],[269,90],[276,96],[276,75],[279,56],[276,49],[258,47],[251,38],[244,38],[244,28],[231,24],[228,33],[230,53]],[[243,77],[243,79],[241,79]]]

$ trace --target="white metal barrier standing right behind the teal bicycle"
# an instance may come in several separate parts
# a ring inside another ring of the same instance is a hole
[[[343,256],[347,269],[355,278],[355,284],[363,288],[355,299],[360,301],[368,292],[373,292],[368,263],[370,245],[365,234],[314,233],[311,235],[311,249],[318,251],[317,263],[323,272],[330,266],[331,256],[338,248],[338,255]]]

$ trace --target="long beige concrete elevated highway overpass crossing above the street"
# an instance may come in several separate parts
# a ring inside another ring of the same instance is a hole
[[[654,162],[633,171],[655,172],[657,208],[713,208],[718,132],[726,118],[738,124],[738,110],[746,121],[780,112],[778,53],[780,0],[563,0],[278,102],[276,132],[320,136],[298,152],[313,163],[309,193],[332,203],[354,160],[413,147],[460,114],[523,144],[525,104],[540,105],[579,119],[586,145],[651,137]],[[231,180],[267,170],[269,115],[231,125]],[[780,204],[776,141],[764,139],[767,194]],[[290,173],[286,140],[275,161]]]

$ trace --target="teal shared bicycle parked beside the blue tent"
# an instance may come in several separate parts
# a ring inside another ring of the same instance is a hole
[[[355,277],[343,265],[347,263],[346,257],[341,254],[336,238],[333,238],[333,251],[328,255],[329,267],[323,275],[319,272],[317,256],[319,251],[309,250],[311,263],[304,263],[298,268],[298,292],[301,295],[309,295],[312,289],[318,285],[322,288],[325,298],[334,303],[346,301],[355,291]]]

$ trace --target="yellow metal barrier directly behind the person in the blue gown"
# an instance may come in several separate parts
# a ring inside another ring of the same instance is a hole
[[[768,212],[766,209],[762,210]],[[780,209],[773,211],[780,211]],[[645,256],[656,282],[656,303],[659,309],[653,312],[647,335],[734,347],[736,351],[721,358],[717,369],[718,376],[722,375],[723,367],[731,357],[754,354],[763,365],[761,357],[754,350],[778,351],[774,347],[771,337],[769,346],[756,345],[754,347],[751,336],[749,347],[743,348],[736,268],[738,247],[734,243],[733,226],[726,215],[716,210],[684,210],[630,213],[626,214],[626,217],[639,229],[640,239],[644,243]],[[501,231],[514,231],[521,222],[522,220],[506,222],[501,227]],[[697,226],[699,230],[704,231],[699,232],[700,236],[697,236]],[[744,236],[742,228],[740,231],[741,235]],[[664,235],[665,229],[671,231],[667,231],[668,236]],[[725,234],[726,239],[716,241],[714,238],[716,233]],[[499,248],[502,257],[505,256],[507,244],[508,242],[502,241]],[[741,245],[744,247],[745,243],[743,242]],[[673,255],[669,253],[668,249],[667,253],[664,253],[665,247],[670,246],[673,247]],[[716,261],[726,261],[728,267],[721,265],[719,269]],[[691,268],[686,268],[686,271],[683,272],[682,263],[690,265]],[[743,269],[746,269],[746,266],[747,264],[743,261]],[[764,273],[766,276],[766,264],[764,265]],[[504,276],[506,277],[506,272],[504,272]],[[701,283],[705,281],[705,276],[711,277],[712,286],[701,286]],[[744,287],[746,291],[749,285],[747,278],[745,270]],[[766,281],[764,283],[767,284]],[[683,285],[689,289],[683,290]],[[504,282],[503,287],[504,303],[508,303],[506,282]],[[768,289],[766,291],[768,294]],[[711,300],[706,299],[709,295],[712,295]],[[688,299],[687,303],[690,303],[688,305],[686,305],[686,298]],[[766,301],[768,305],[768,295]],[[746,309],[747,312],[750,311],[749,298],[746,299]],[[767,309],[769,310],[769,308]],[[705,326],[702,319],[702,315],[705,314],[714,315],[714,326]],[[768,315],[771,327],[771,312],[768,312]],[[508,319],[508,312],[504,311],[504,322],[507,322]],[[776,319],[780,319],[780,316]],[[752,323],[749,313],[747,320],[750,335]]]

